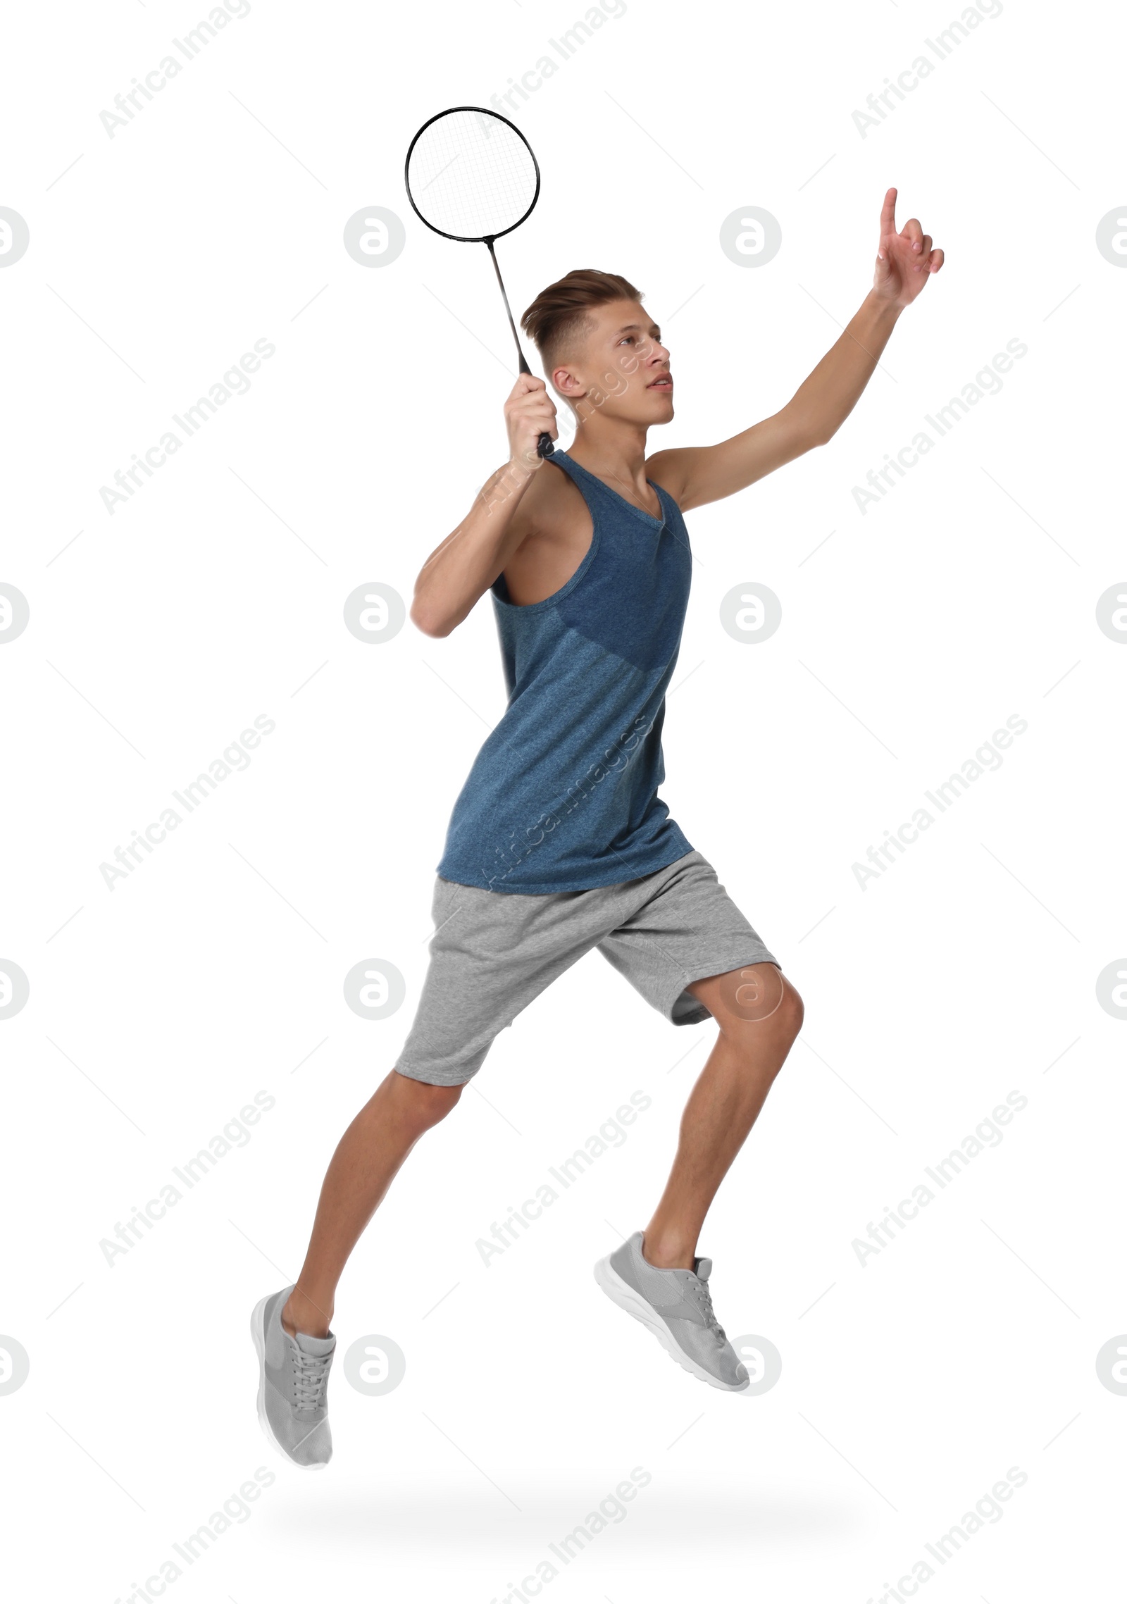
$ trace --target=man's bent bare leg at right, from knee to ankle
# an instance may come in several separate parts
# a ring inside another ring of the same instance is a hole
[[[752,964],[688,988],[720,1025],[681,1116],[677,1158],[641,1251],[662,1269],[693,1269],[704,1216],[802,1028],[802,998],[774,964]]]

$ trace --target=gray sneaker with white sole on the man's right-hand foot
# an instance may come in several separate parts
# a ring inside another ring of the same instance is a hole
[[[643,1232],[595,1266],[595,1280],[619,1309],[654,1333],[683,1370],[725,1392],[750,1386],[745,1367],[712,1310],[712,1259],[694,1259],[691,1270],[662,1270],[641,1256]]]

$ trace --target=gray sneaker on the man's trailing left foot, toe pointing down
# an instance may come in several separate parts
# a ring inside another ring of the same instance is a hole
[[[332,1458],[325,1387],[337,1338],[306,1336],[297,1341],[282,1325],[282,1309],[293,1291],[263,1298],[250,1317],[258,1354],[258,1424],[263,1434],[303,1471],[319,1471]]]

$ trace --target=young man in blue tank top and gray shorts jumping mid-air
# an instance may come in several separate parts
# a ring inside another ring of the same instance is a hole
[[[449,635],[491,590],[510,699],[454,807],[410,1035],[333,1153],[297,1285],[252,1317],[260,1421],[295,1464],[332,1453],[337,1282],[393,1176],[495,1035],[592,948],[672,1023],[718,1025],[665,1192],[595,1277],[691,1375],[728,1392],[749,1386],[696,1245],[798,1033],[802,999],[657,797],[689,592],[681,513],[826,444],[850,415],[901,311],[943,266],[915,218],[896,231],[895,205],[890,189],[874,286],[845,334],[781,412],[718,446],[646,456],[649,428],[673,417],[673,377],[624,277],[569,273],[524,313],[576,412],[576,441],[539,457],[556,411],[543,380],[518,379],[508,460],[415,584],[410,616],[428,635]]]

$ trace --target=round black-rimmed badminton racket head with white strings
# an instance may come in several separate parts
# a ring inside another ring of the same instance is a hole
[[[449,106],[407,148],[407,199],[444,239],[500,239],[540,196],[540,167],[516,124],[484,106]]]

